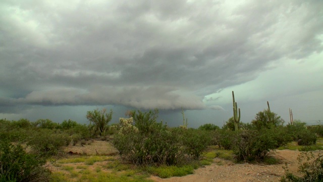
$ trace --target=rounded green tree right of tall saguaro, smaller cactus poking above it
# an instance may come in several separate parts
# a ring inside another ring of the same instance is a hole
[[[284,119],[269,109],[258,112],[251,121],[257,129],[277,127],[283,125],[284,122]]]

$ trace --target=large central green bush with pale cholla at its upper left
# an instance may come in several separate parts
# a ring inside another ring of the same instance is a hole
[[[168,130],[159,123],[151,123],[150,134],[146,135],[131,121],[132,118],[120,118],[121,129],[113,139],[121,157],[135,165],[174,165],[182,161],[184,152],[178,132],[181,129]]]

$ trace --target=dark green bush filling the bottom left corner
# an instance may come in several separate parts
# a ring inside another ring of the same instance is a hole
[[[0,181],[48,181],[46,159],[28,154],[19,144],[0,140]]]

